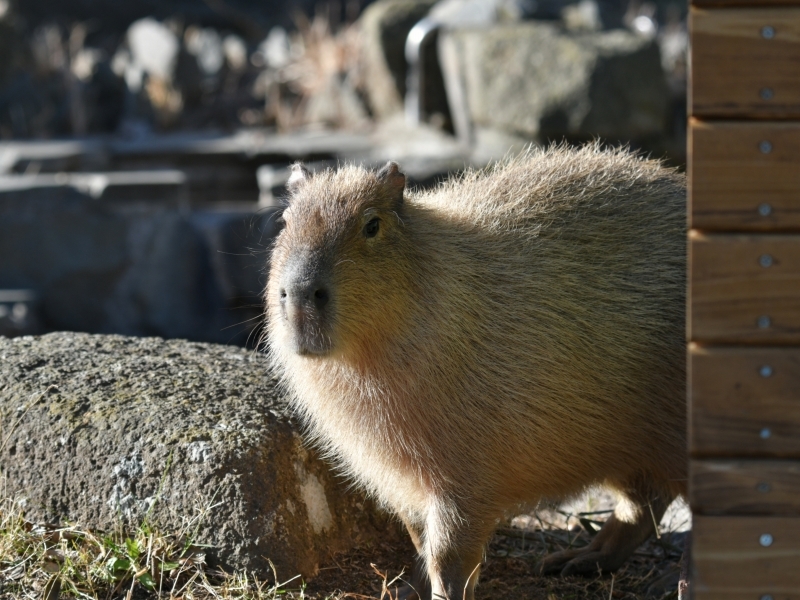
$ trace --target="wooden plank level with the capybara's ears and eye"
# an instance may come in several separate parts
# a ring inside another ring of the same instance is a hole
[[[689,123],[690,227],[800,230],[800,122]]]

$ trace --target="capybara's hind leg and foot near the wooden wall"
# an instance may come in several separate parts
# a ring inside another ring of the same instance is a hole
[[[661,521],[672,499],[668,493],[623,495],[611,518],[588,546],[547,556],[539,564],[539,572],[592,575],[598,570],[616,571],[656,532],[656,523]]]

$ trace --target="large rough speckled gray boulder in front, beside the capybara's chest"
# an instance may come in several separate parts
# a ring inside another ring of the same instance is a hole
[[[159,338],[0,337],[0,470],[29,519],[110,528],[150,512],[213,564],[310,576],[396,531],[297,434],[263,355]]]

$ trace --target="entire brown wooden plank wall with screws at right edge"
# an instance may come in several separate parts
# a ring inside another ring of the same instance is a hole
[[[800,0],[690,8],[698,600],[800,599]]]

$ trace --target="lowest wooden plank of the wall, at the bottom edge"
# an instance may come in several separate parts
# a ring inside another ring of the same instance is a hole
[[[695,594],[798,594],[800,519],[695,516],[692,567]]]

